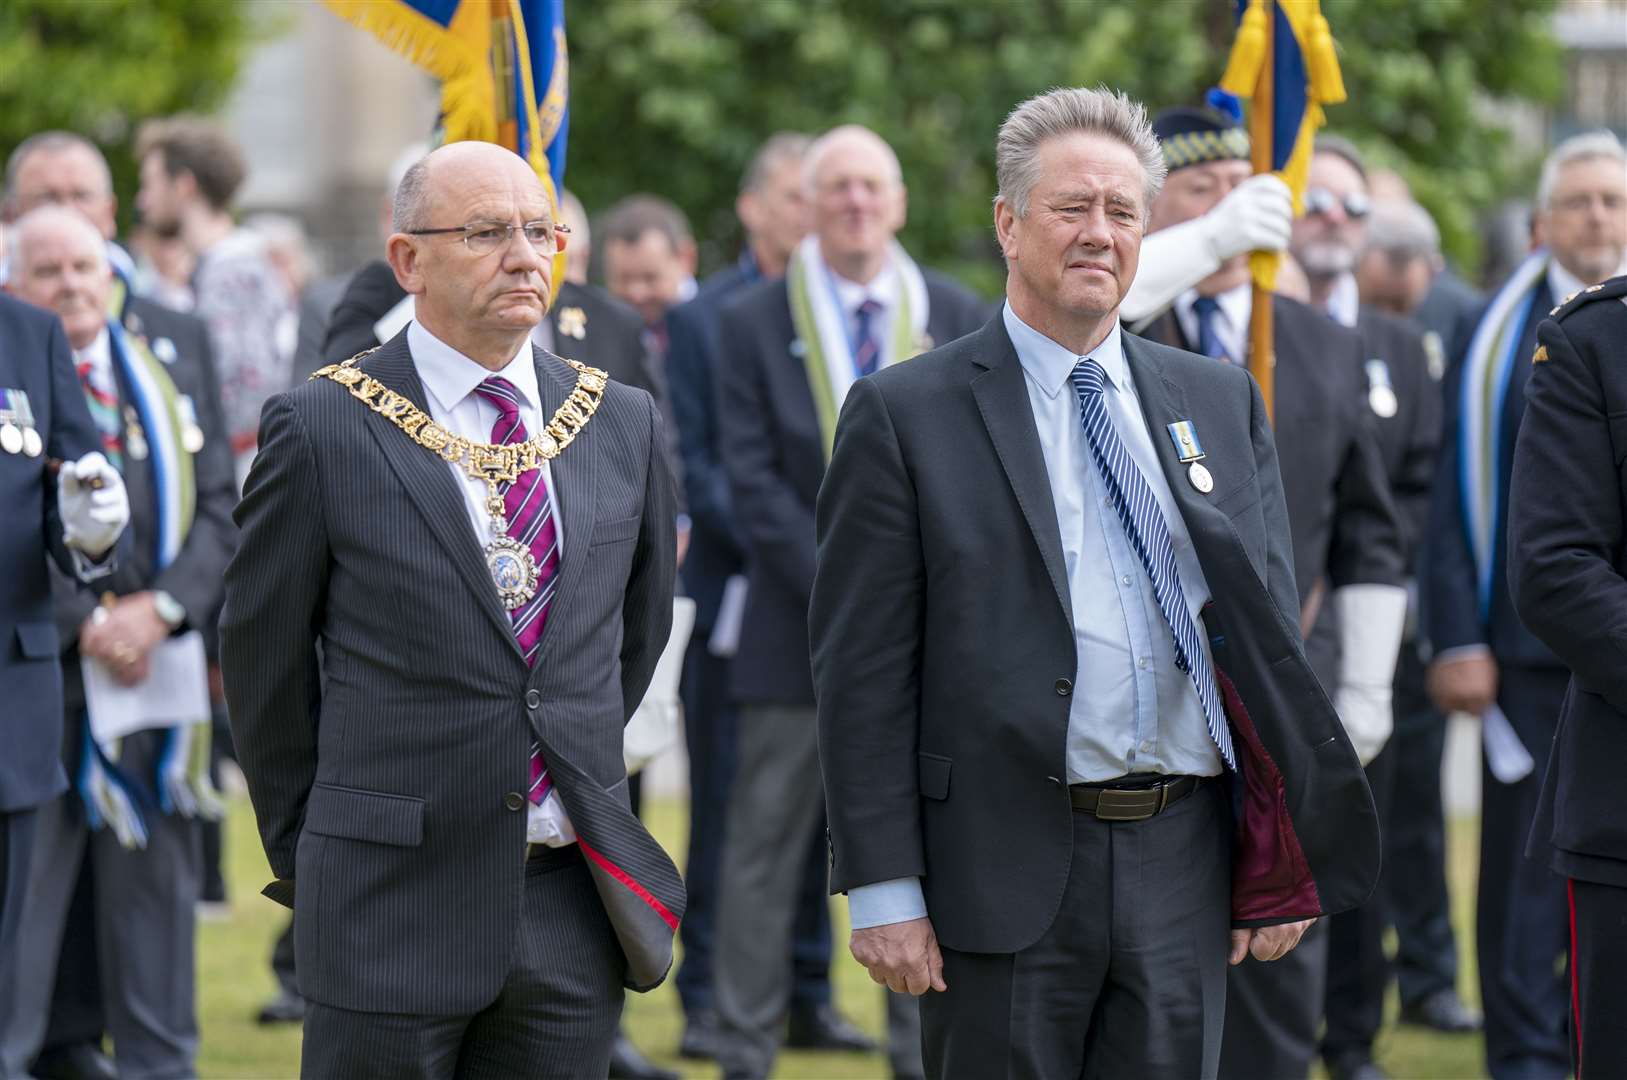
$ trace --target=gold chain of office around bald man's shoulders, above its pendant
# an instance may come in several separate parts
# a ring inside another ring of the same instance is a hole
[[[519,480],[521,473],[563,454],[565,447],[581,434],[599,410],[605,384],[610,381],[610,376],[597,368],[566,359],[565,363],[576,369],[576,387],[539,434],[524,442],[473,442],[434,423],[410,400],[361,371],[358,366],[361,359],[377,348],[356,353],[342,364],[319,368],[311,377],[332,379],[340,384],[350,390],[351,397],[405,431],[423,449],[460,465],[470,480],[485,480],[493,494],[498,483],[513,483]]]

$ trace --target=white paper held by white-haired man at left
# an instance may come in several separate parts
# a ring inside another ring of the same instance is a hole
[[[205,724],[208,708],[208,660],[203,634],[192,631],[169,638],[148,657],[151,670],[135,686],[122,686],[101,660],[80,657],[85,675],[85,708],[91,716],[91,737],[99,743],[132,732],[177,724]]]

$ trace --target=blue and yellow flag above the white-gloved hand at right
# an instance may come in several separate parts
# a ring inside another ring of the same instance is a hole
[[[1293,192],[1293,213],[1302,213],[1311,143],[1324,124],[1323,106],[1344,101],[1333,33],[1319,0],[1237,0],[1237,41],[1220,88],[1253,99],[1253,107],[1269,109],[1263,125],[1250,124],[1250,133],[1258,148],[1259,132],[1267,132],[1271,171]],[[1277,252],[1250,255],[1256,285],[1271,290],[1279,262]]]

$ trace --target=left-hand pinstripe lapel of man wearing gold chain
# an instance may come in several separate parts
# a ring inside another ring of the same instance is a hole
[[[405,330],[369,356],[363,368],[369,376],[408,398],[423,412],[430,412],[430,405],[423,395],[423,382],[420,382],[418,371],[412,364],[412,353],[407,350]],[[363,412],[368,429],[384,452],[384,460],[400,477],[408,498],[412,498],[418,512],[423,514],[430,532],[434,533],[434,538],[446,550],[447,558],[452,560],[457,573],[464,577],[464,584],[473,592],[475,602],[503,631],[503,638],[514,647],[514,655],[521,655],[519,642],[514,639],[514,628],[509,623],[508,612],[498,602],[498,590],[491,584],[491,573],[486,569],[480,542],[469,524],[469,504],[464,501],[464,491],[459,488],[451,468],[439,455],[431,454],[407,438],[407,433],[400,431],[392,421],[363,407],[360,402],[356,408]]]

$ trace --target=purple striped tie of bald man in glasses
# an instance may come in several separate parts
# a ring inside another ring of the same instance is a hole
[[[498,421],[491,425],[493,442],[524,442],[530,438],[526,431],[526,421],[519,416],[521,397],[513,382],[491,376],[475,387],[475,394],[498,410]],[[522,472],[513,483],[498,485],[498,493],[503,496],[508,516],[508,535],[529,547],[532,558],[537,560],[537,595],[509,613],[514,623],[514,638],[519,639],[519,651],[526,655],[526,664],[535,664],[537,646],[542,642],[542,628],[548,621],[548,603],[553,602],[553,586],[560,571],[553,499],[548,498],[548,485],[543,481],[540,468]],[[532,742],[530,800],[542,805],[552,786],[548,766],[542,761],[542,748]]]

